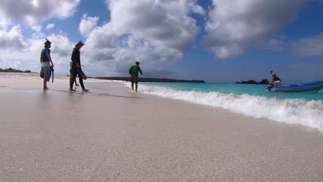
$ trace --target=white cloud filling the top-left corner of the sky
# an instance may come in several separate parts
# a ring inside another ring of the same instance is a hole
[[[51,17],[63,19],[70,17],[80,0],[1,0],[0,26],[22,23],[35,26]]]

